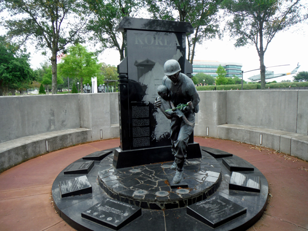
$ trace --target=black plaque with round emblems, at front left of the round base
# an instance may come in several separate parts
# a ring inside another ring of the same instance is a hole
[[[85,210],[81,217],[108,228],[119,230],[142,214],[141,207],[113,199],[104,199]]]

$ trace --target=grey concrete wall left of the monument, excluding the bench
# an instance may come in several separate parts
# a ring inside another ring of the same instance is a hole
[[[93,141],[100,129],[102,139],[119,137],[118,105],[117,93],[0,97],[0,143],[80,127],[91,129]]]

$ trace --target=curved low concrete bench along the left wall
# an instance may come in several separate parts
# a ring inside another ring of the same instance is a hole
[[[75,128],[35,134],[0,143],[0,172],[46,152],[91,141],[91,129]]]

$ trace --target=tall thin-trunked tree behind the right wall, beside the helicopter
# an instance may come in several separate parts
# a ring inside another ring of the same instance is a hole
[[[261,89],[265,89],[264,53],[277,32],[301,22],[300,0],[224,0],[224,8],[233,14],[227,27],[236,38],[236,47],[252,44],[260,58]]]

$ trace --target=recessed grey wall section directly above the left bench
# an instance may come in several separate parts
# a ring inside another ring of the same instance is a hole
[[[80,127],[77,94],[0,97],[0,143]]]

